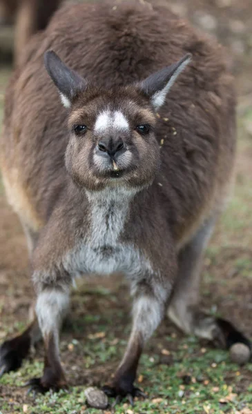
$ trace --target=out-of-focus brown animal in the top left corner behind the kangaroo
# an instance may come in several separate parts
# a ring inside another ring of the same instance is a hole
[[[0,0],[0,23],[15,23],[14,61],[19,63],[32,34],[46,28],[61,0]]]

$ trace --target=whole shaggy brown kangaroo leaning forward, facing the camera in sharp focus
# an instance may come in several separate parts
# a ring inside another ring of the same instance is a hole
[[[185,333],[251,349],[199,306],[202,256],[233,182],[235,92],[222,47],[162,4],[108,1],[63,6],[26,56],[6,92],[1,170],[37,302],[26,331],[2,344],[1,373],[42,335],[43,375],[30,387],[67,386],[59,330],[87,274],[123,273],[133,297],[109,395],[141,394],[139,358],[166,313]]]

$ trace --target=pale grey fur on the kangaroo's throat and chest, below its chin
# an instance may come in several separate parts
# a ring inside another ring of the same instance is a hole
[[[151,272],[151,265],[144,254],[133,244],[122,242],[133,197],[133,192],[121,188],[88,193],[90,228],[86,237],[68,254],[65,261],[72,276],[120,272],[135,277],[146,271]]]

